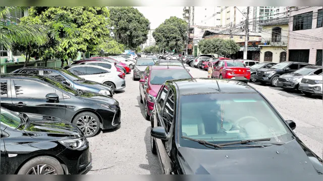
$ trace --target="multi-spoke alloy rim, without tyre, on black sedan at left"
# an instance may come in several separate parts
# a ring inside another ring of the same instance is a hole
[[[80,128],[85,135],[93,134],[95,130],[98,129],[95,119],[90,116],[81,117],[77,121],[76,126]]]

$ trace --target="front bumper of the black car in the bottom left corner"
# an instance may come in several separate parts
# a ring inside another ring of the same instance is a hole
[[[92,165],[92,160],[90,156],[90,147],[87,142],[87,147],[83,150],[71,150],[66,148],[57,156],[63,160],[66,167],[65,172],[68,174],[82,174],[89,170]]]

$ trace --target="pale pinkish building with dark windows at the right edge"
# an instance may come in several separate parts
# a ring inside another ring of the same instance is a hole
[[[322,7],[291,8],[287,60],[322,65]]]

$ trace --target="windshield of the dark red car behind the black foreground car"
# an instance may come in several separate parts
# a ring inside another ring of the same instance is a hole
[[[166,80],[192,78],[185,69],[155,69],[151,70],[150,83],[163,84]]]

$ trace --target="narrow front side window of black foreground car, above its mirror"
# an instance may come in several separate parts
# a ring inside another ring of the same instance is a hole
[[[164,111],[163,111],[163,121],[165,124],[165,128],[167,130],[167,132],[170,132],[172,123],[173,123],[173,119],[174,119],[174,93],[171,90],[167,99],[166,99],[166,104],[164,107]]]

